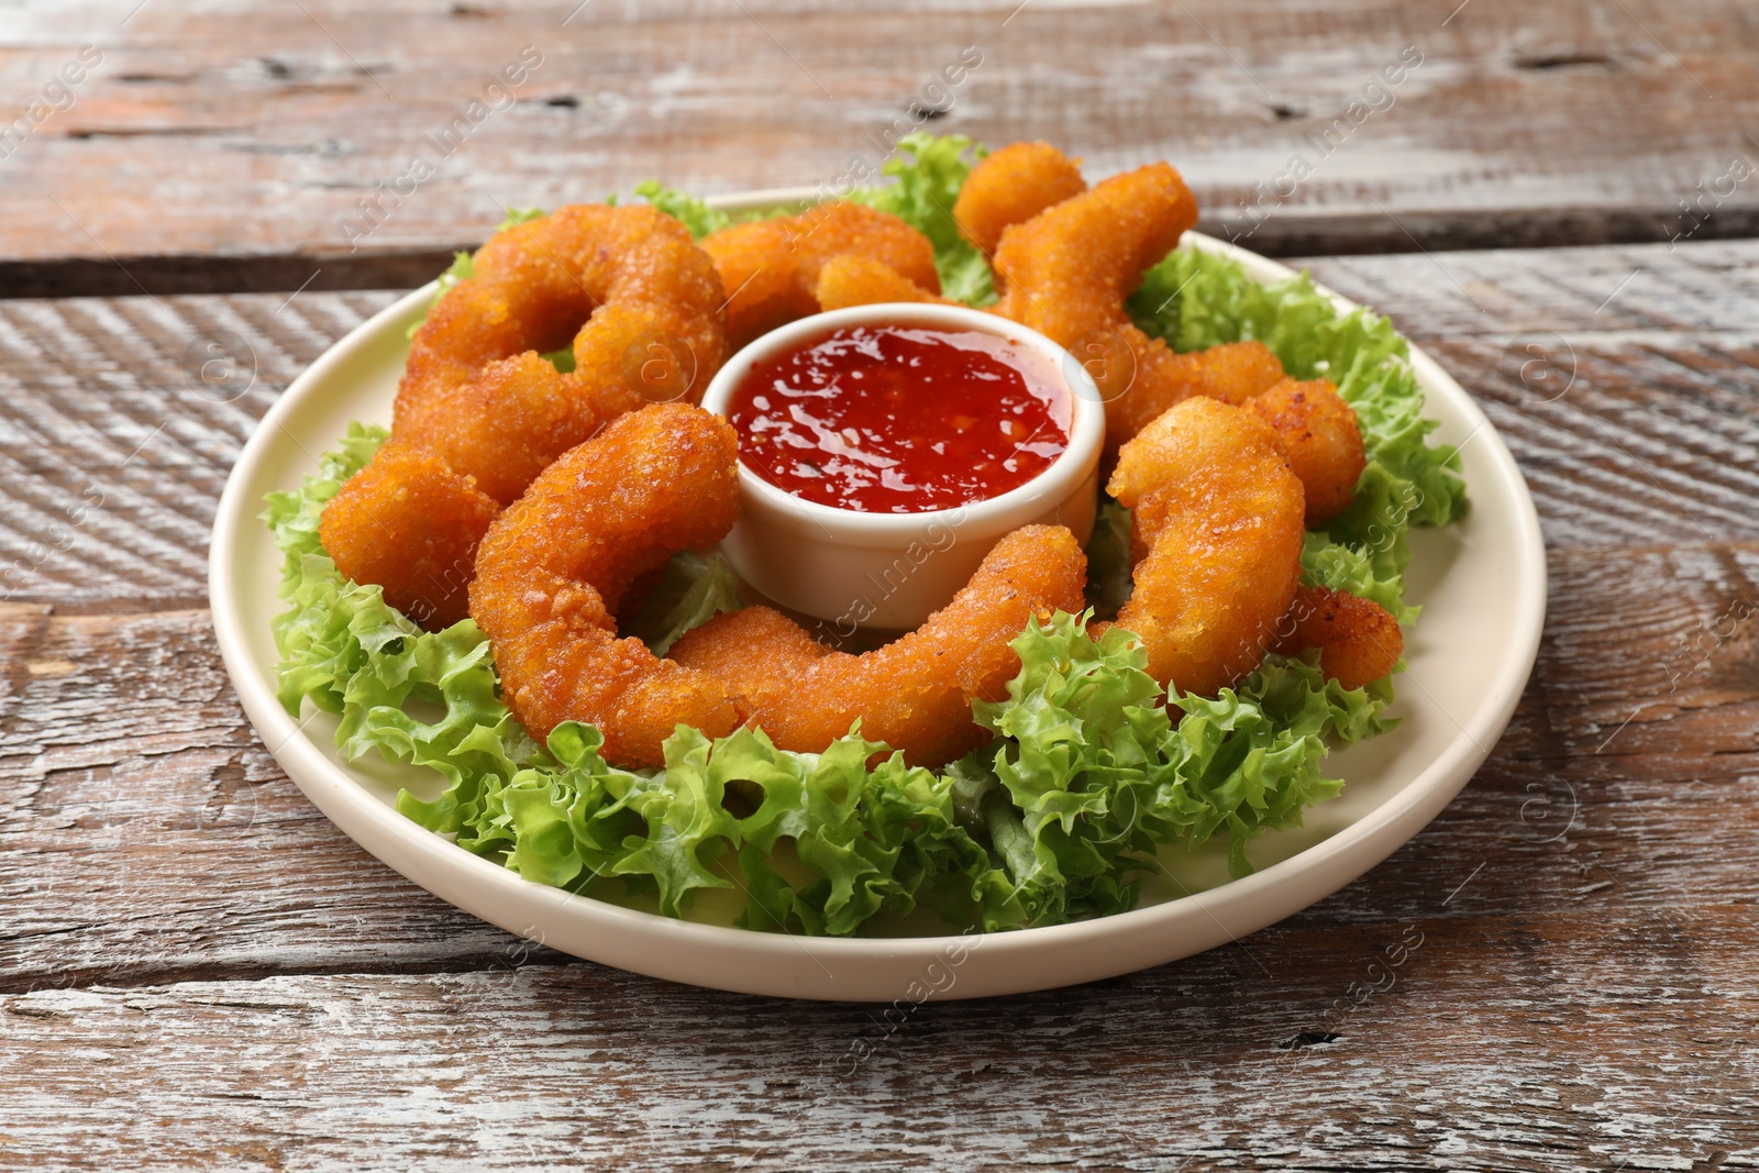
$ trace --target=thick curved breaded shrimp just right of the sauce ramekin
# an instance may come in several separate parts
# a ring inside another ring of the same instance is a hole
[[[1168,691],[1214,696],[1275,640],[1302,575],[1302,482],[1251,412],[1187,399],[1119,452],[1106,491],[1131,510],[1142,637]]]

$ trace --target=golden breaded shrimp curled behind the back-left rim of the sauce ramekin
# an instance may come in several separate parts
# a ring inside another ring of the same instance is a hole
[[[828,202],[799,216],[735,223],[702,237],[726,297],[734,348],[818,313],[820,271],[832,257],[871,257],[929,294],[941,292],[934,246],[897,216],[864,204]]]

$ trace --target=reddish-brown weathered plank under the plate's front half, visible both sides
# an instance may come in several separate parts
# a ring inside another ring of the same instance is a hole
[[[1428,914],[1479,865],[1462,907],[1534,923],[1750,904],[1759,545],[1562,550],[1551,572],[1534,682],[1486,767],[1303,930]],[[204,612],[44,610],[0,610],[0,990],[498,964],[505,934],[292,788]]]

